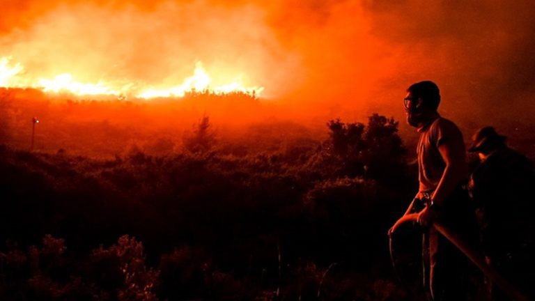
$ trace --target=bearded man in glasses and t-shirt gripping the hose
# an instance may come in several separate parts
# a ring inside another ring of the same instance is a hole
[[[407,122],[420,134],[419,191],[405,215],[418,213],[418,222],[424,228],[422,253],[428,257],[428,279],[424,275],[424,280],[428,280],[426,285],[435,301],[468,300],[467,258],[431,227],[440,219],[465,240],[477,240],[474,210],[463,189],[469,176],[463,134],[455,123],[437,112],[440,90],[434,82],[412,84],[403,102]],[[423,208],[417,208],[418,203]]]

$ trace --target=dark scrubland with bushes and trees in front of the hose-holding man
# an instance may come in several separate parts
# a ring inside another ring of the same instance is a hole
[[[245,148],[205,116],[165,155],[2,146],[0,299],[413,300],[387,253],[417,178],[397,126]]]

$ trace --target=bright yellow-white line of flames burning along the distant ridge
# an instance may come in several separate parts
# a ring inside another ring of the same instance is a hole
[[[24,67],[20,63],[10,63],[10,57],[0,59],[0,86],[5,88],[39,88],[44,92],[60,93],[68,92],[75,95],[132,95],[135,98],[170,98],[183,97],[192,91],[209,91],[210,93],[223,94],[242,92],[250,95],[260,95],[263,87],[246,87],[238,79],[235,82],[221,86],[210,86],[212,78],[203,68],[201,62],[196,63],[194,75],[184,79],[179,86],[171,88],[144,88],[129,84],[121,87],[107,82],[99,81],[96,84],[77,82],[71,73],[62,73],[52,79],[39,77],[35,82],[29,81],[22,72]]]

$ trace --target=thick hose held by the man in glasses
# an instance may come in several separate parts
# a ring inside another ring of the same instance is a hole
[[[405,222],[416,222],[417,219],[418,213],[404,215],[391,228],[390,234],[394,233],[396,229],[398,229],[398,226],[401,226],[401,224],[404,224]],[[488,277],[490,281],[501,288],[502,291],[509,296],[509,298],[518,301],[529,301],[528,298],[524,294],[520,293],[518,289],[514,288],[511,283],[507,281],[507,279],[502,277],[502,275],[499,275],[495,268],[483,261],[481,254],[470,248],[466,242],[464,242],[456,233],[453,233],[453,231],[448,229],[447,226],[444,226],[440,222],[433,222],[433,228],[435,228],[440,234],[442,234],[442,236],[447,238],[451,243],[453,243],[453,245],[460,249],[460,252],[463,252],[463,254],[465,254],[465,256],[467,256],[479,268],[479,270],[481,270],[481,272],[483,272],[483,275]]]

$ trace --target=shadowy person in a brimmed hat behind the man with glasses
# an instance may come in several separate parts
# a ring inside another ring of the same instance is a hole
[[[527,157],[506,145],[492,127],[477,130],[468,151],[480,164],[470,177],[486,260],[520,291],[535,298],[535,173]],[[509,300],[488,285],[491,300]]]

